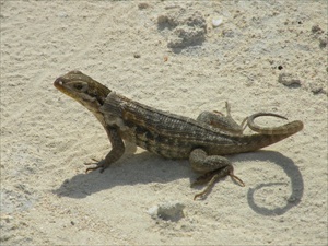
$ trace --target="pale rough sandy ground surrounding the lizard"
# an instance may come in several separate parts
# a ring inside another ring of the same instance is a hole
[[[1,244],[327,245],[327,9],[324,0],[1,1]],[[202,187],[189,187],[198,175],[188,161],[141,149],[86,175],[83,163],[110,144],[52,86],[73,69],[184,116],[224,113],[229,101],[238,122],[271,112],[305,128],[229,156],[246,187],[225,178],[206,200],[192,200]],[[179,204],[180,215],[151,213],[163,204]]]

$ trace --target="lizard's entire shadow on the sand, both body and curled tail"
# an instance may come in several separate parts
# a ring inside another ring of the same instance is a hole
[[[247,201],[248,206],[255,212],[268,216],[281,215],[301,202],[304,191],[304,183],[298,167],[291,159],[279,152],[263,150],[250,153],[242,153],[233,155],[229,159],[233,163],[236,161],[270,162],[280,166],[291,179],[292,192],[286,199],[286,204],[282,207],[276,207],[273,209],[271,209],[272,204],[270,204],[270,208],[259,206],[255,199],[256,192],[266,187],[285,185],[285,183],[259,184],[255,188],[249,188],[247,192]],[[104,173],[95,171],[89,174],[77,174],[71,179],[66,179],[61,186],[57,189],[54,189],[52,192],[60,197],[63,196],[82,199],[94,192],[110,189],[115,186],[132,186],[136,184],[151,183],[164,184],[185,177],[189,177],[190,183],[192,183],[191,179],[195,180],[197,176],[199,176],[199,174],[196,174],[191,169],[188,161],[165,160],[161,156],[144,151],[124,156],[117,162],[117,164],[113,164]]]

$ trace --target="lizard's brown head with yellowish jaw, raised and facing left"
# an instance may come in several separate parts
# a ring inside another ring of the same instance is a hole
[[[99,107],[110,90],[80,71],[70,71],[54,82],[55,87],[83,106]]]

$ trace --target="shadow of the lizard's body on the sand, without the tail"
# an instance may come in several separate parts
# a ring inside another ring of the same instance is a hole
[[[86,166],[82,166],[85,171]],[[194,172],[188,161],[165,160],[147,151],[127,154],[103,173],[94,171],[80,173],[66,179],[52,192],[58,196],[77,199],[85,198],[94,192],[110,189],[115,186],[132,186],[136,184],[169,183],[191,176]],[[194,174],[195,175],[195,174]]]

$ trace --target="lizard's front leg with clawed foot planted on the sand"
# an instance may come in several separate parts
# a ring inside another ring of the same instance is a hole
[[[114,127],[105,127],[105,130],[107,132],[108,139],[112,143],[112,150],[106,155],[106,157],[102,161],[99,161],[95,167],[89,167],[86,168],[85,173],[90,171],[95,171],[101,168],[101,173],[103,173],[112,163],[116,162],[121,157],[121,155],[125,153],[125,144],[124,141],[118,132],[117,128]],[[93,163],[90,163],[93,164]],[[86,164],[86,165],[90,165]]]

